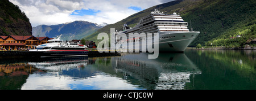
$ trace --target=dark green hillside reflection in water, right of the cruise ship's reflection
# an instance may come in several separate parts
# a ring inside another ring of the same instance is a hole
[[[256,89],[256,50],[187,50],[189,59],[203,72],[187,89]]]

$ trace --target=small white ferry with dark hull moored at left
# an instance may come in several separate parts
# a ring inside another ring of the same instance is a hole
[[[88,56],[88,50],[80,42],[63,42],[63,39],[49,39],[49,43],[36,46],[36,49],[29,50],[32,57],[63,57],[63,56]]]

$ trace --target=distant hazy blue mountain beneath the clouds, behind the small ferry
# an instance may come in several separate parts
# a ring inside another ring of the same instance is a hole
[[[32,33],[36,37],[56,37],[63,34],[61,39],[72,40],[89,36],[100,28],[102,28],[100,25],[88,21],[73,21],[58,25],[39,25],[33,27]]]

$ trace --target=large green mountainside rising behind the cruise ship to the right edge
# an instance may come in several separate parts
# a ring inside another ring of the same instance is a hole
[[[110,28],[120,30],[123,24],[134,27],[142,17],[149,15],[154,8],[158,8],[163,12],[168,11],[168,14],[173,12],[180,14],[183,20],[189,23],[189,29],[192,25],[194,31],[200,32],[189,46],[196,46],[198,43],[205,45],[214,39],[234,36],[238,30],[253,28],[256,22],[255,5],[254,0],[177,0],[147,8],[115,24],[106,25],[85,39],[100,42],[97,40],[98,33],[109,34]],[[254,38],[254,36],[249,35],[247,38]]]

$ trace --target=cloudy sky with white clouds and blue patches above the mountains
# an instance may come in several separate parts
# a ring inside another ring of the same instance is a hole
[[[173,0],[171,0],[173,1]],[[32,27],[75,20],[113,24],[167,0],[10,0],[26,13]]]

